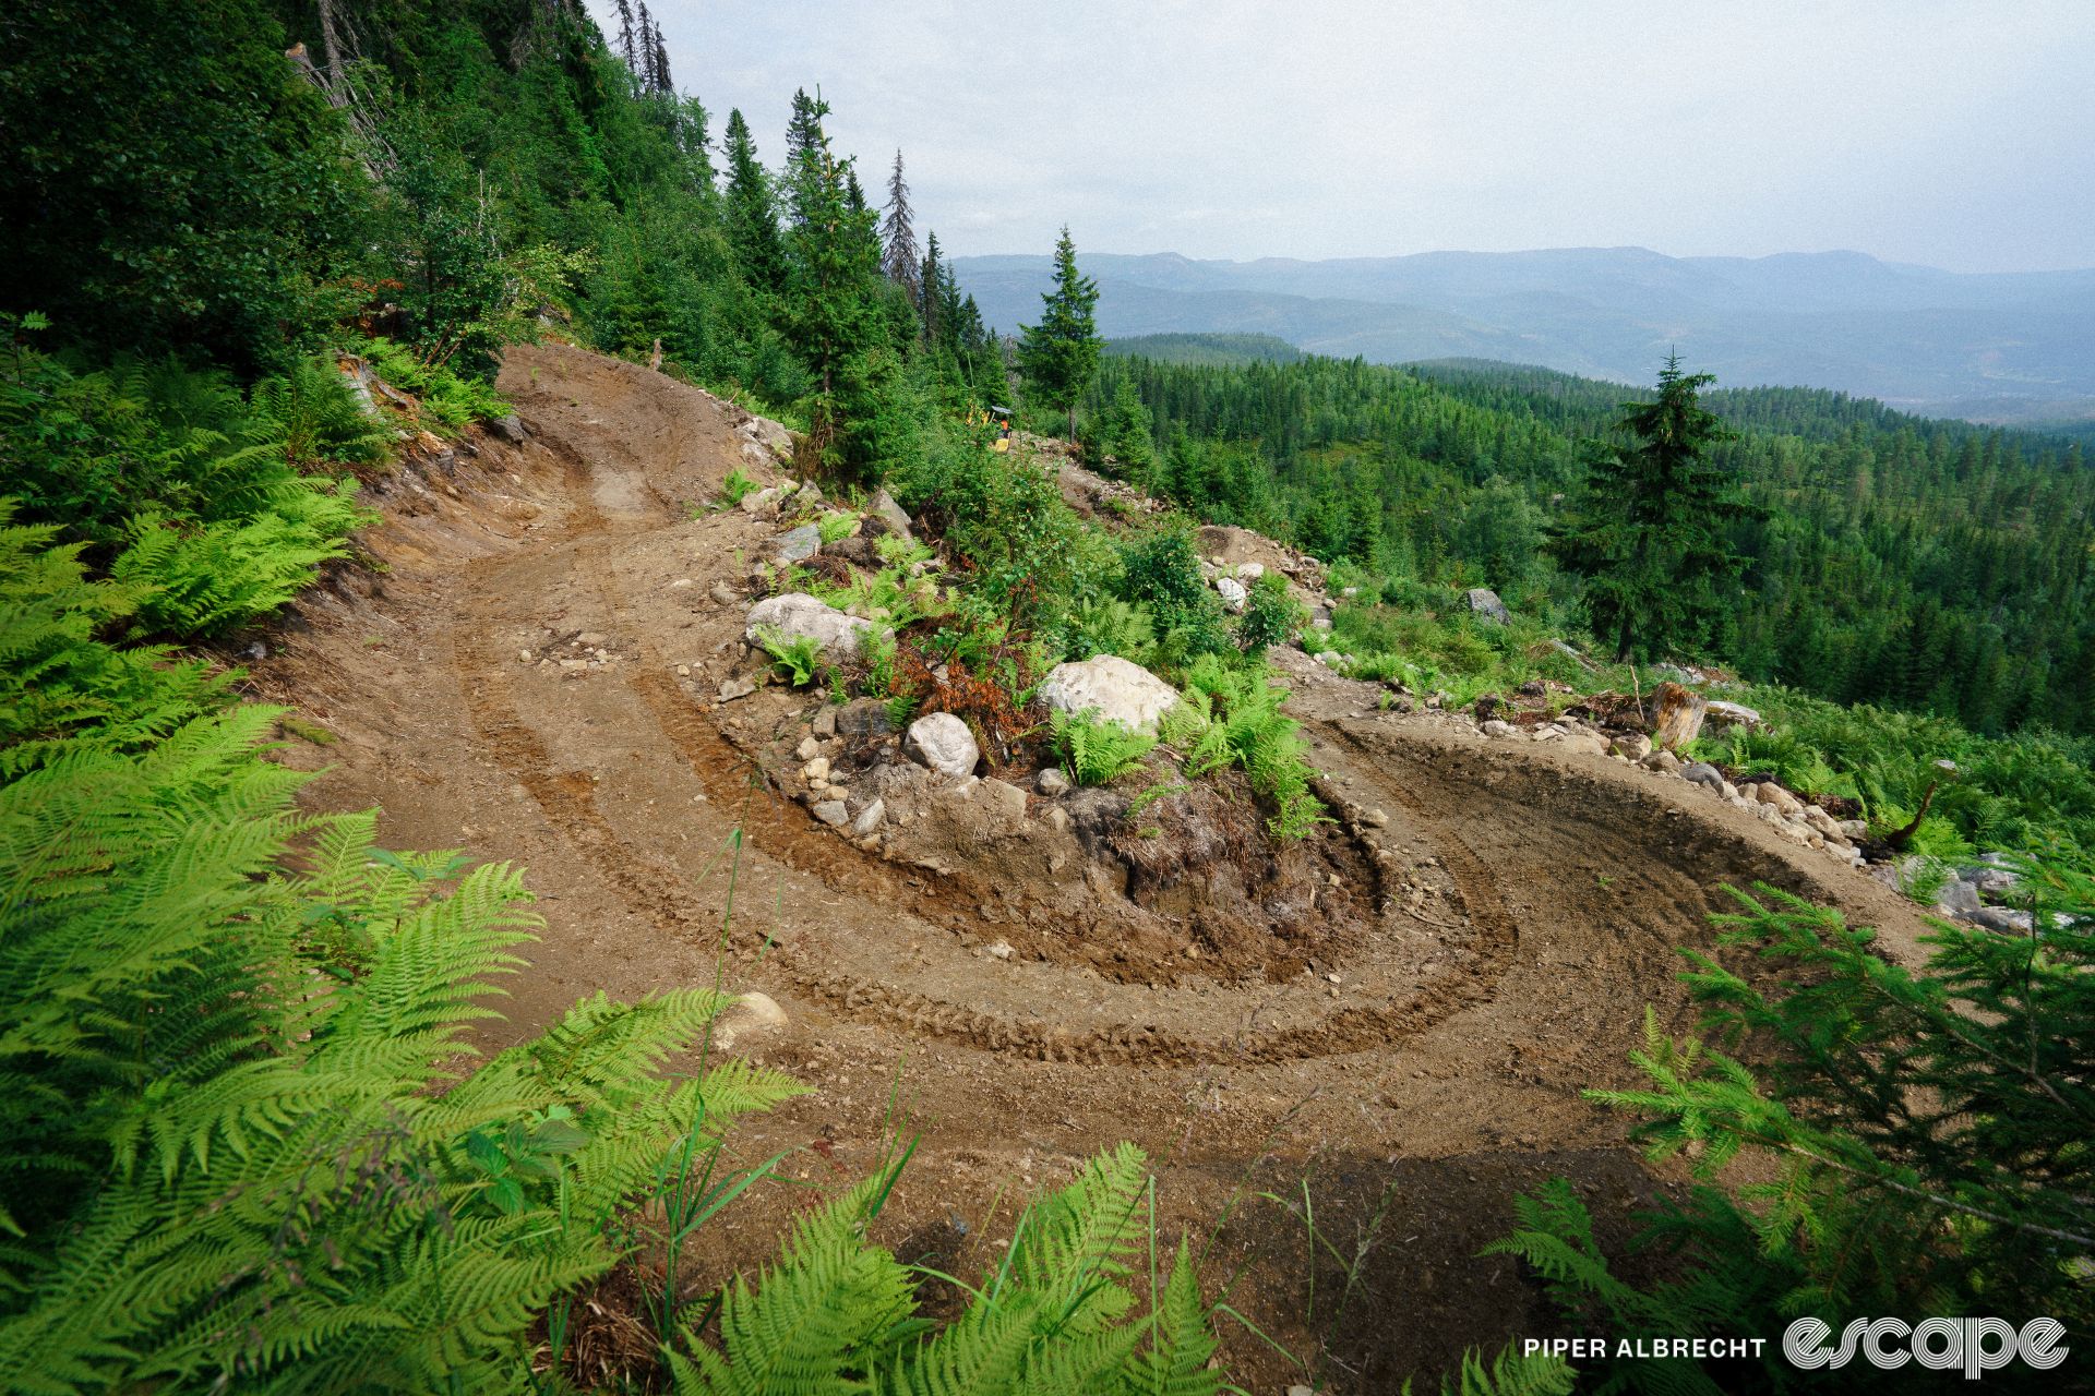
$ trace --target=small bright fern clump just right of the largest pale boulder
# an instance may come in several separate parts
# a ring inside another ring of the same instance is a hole
[[[1165,712],[1159,735],[1186,753],[1190,774],[1242,766],[1251,789],[1274,804],[1267,831],[1276,839],[1301,839],[1326,816],[1311,793],[1316,768],[1307,745],[1297,722],[1280,712],[1286,697],[1286,684],[1265,663],[1232,668],[1219,655],[1203,655],[1188,670],[1182,701]]]

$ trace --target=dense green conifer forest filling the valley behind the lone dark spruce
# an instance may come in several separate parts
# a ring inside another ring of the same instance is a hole
[[[1146,477],[1215,519],[1389,578],[1494,586],[1540,613],[1575,580],[1544,538],[1636,393],[1544,368],[1108,358],[1154,427]],[[1929,421],[1814,389],[1718,389],[1716,460],[1762,515],[1699,653],[1835,701],[2095,730],[2095,473],[2072,442]]]

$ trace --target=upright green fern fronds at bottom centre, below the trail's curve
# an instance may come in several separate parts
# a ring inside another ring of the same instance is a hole
[[[1192,1254],[1159,1254],[1146,1159],[1121,1145],[1027,1208],[1010,1252],[932,1329],[909,1270],[865,1241],[874,1178],[804,1216],[756,1285],[733,1281],[721,1342],[672,1358],[677,1396],[861,1390],[895,1396],[1135,1392],[1205,1396],[1215,1337]],[[1135,1285],[1148,1277],[1148,1310]]]

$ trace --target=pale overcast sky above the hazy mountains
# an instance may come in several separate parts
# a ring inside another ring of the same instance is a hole
[[[1066,222],[1192,257],[2095,266],[2095,0],[654,4],[714,136],[740,107],[775,163],[819,86],[960,255]]]

